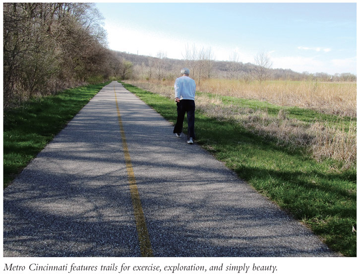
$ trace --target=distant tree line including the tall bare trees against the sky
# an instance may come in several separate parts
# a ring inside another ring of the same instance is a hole
[[[117,52],[122,59],[132,64],[131,72],[127,74],[130,78],[140,79],[173,79],[178,77],[180,69],[190,69],[190,76],[200,85],[201,80],[208,78],[226,78],[243,82],[253,80],[265,82],[266,80],[313,80],[313,81],[342,81],[355,82],[357,76],[353,73],[325,72],[309,73],[296,72],[292,69],[273,69],[272,62],[266,51],[259,51],[254,57],[254,64],[240,62],[237,52],[229,55],[228,61],[217,61],[210,47],[196,49],[193,45],[184,48],[182,59],[167,58],[165,52],[160,51],[156,57]]]

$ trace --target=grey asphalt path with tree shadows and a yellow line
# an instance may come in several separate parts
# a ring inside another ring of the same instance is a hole
[[[4,190],[3,256],[146,255],[337,256],[112,82]]]

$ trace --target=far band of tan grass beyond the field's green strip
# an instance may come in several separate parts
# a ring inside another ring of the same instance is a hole
[[[268,101],[280,106],[310,108],[339,116],[357,116],[357,84],[316,81],[240,82],[201,81],[199,88],[213,94]]]

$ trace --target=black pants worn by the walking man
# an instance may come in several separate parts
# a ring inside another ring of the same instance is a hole
[[[194,137],[194,100],[182,99],[179,103],[177,103],[177,122],[175,125],[175,129],[173,133],[182,133],[183,128],[183,120],[184,115],[187,113],[187,123],[188,123],[188,132],[187,132],[187,139],[188,138],[195,138]]]

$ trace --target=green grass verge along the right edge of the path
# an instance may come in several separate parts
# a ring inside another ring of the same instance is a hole
[[[170,122],[176,121],[173,100],[123,85]],[[195,133],[203,148],[307,224],[332,250],[357,255],[356,232],[352,231],[357,226],[356,167],[340,170],[340,162],[329,159],[318,163],[301,149],[278,146],[237,123],[219,122],[200,112],[196,112]]]

